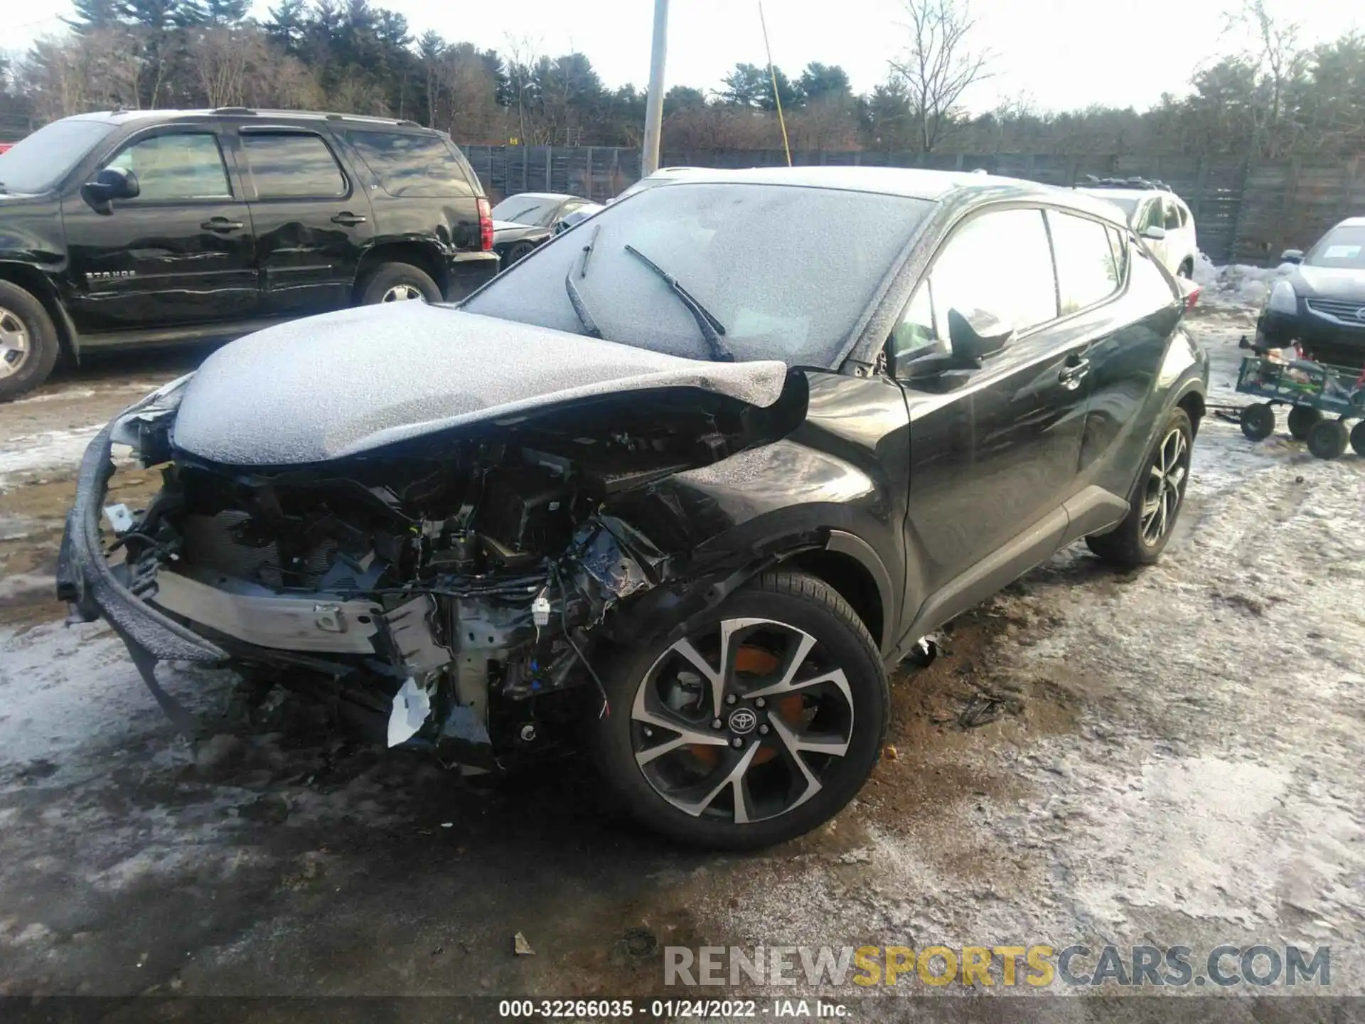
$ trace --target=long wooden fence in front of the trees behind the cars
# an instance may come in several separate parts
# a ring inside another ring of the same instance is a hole
[[[464,146],[494,201],[516,193],[569,193],[609,199],[640,176],[640,152],[610,146]],[[779,167],[782,150],[669,152],[663,167]],[[1317,164],[1249,164],[1179,156],[1044,153],[793,153],[792,162],[838,167],[983,168],[991,173],[1069,186],[1085,175],[1155,177],[1194,213],[1200,248],[1215,262],[1269,264],[1286,248],[1306,248],[1330,227],[1365,214],[1360,157]]]

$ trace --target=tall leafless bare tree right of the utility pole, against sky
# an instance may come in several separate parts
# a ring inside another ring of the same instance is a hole
[[[932,153],[962,94],[990,78],[990,51],[972,49],[976,22],[968,0],[905,0],[910,42],[891,70],[905,82],[920,150]]]

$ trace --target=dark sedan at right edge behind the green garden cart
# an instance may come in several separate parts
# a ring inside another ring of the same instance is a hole
[[[1271,289],[1257,341],[1298,341],[1312,359],[1365,369],[1365,217],[1343,220],[1308,253],[1291,248],[1282,259],[1298,266]]]

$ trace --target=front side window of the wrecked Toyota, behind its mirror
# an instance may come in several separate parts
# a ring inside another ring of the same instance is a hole
[[[983,310],[1025,332],[1057,318],[1041,210],[983,213],[956,231],[930,272],[938,318]],[[947,332],[943,330],[946,337]]]

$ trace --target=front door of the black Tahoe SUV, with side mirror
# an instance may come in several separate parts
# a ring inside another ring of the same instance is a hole
[[[158,126],[94,171],[136,175],[132,199],[63,197],[68,310],[82,333],[176,328],[259,314],[251,214],[213,124]]]

